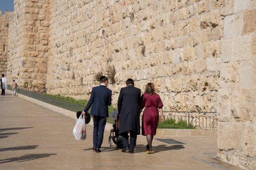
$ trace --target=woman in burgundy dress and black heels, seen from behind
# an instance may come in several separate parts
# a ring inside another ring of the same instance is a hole
[[[163,103],[156,94],[153,83],[146,85],[145,93],[141,96],[140,113],[145,107],[142,116],[142,135],[146,136],[148,145],[146,153],[152,153],[152,140],[156,135],[156,128],[159,121],[158,108],[161,113],[161,123],[164,122]]]

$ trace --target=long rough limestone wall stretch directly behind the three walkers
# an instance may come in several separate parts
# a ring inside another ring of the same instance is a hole
[[[216,111],[223,0],[54,0],[47,92],[89,99],[115,66],[113,104],[129,77],[154,82],[165,110]],[[144,49],[144,51],[143,51]]]

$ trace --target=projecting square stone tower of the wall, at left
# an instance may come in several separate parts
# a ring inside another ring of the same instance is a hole
[[[45,91],[49,38],[49,0],[15,0],[10,20],[8,72],[10,79]]]

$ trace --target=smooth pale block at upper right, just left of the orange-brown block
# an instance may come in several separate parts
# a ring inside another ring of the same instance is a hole
[[[243,31],[243,13],[224,18],[224,38],[238,37]]]

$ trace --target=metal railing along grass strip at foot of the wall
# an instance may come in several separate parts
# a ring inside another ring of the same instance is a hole
[[[8,85],[8,90],[11,90]],[[82,111],[87,105],[87,102],[74,100],[57,95],[49,95],[43,92],[27,90],[22,87],[16,89],[16,92],[33,97],[37,100],[47,102],[51,105],[56,105],[74,112]],[[117,110],[114,107],[108,107],[109,117],[107,121],[113,123],[113,112]],[[91,109],[88,111],[90,113]],[[141,116],[142,120],[142,116]],[[160,122],[159,116],[158,128],[174,128],[174,129],[217,129],[218,120],[216,112],[178,112],[164,111],[164,123]]]

